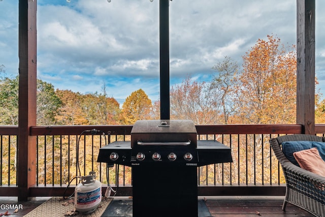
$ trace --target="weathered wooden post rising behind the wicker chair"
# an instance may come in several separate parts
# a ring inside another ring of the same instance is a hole
[[[297,0],[297,123],[315,134],[315,0]]]

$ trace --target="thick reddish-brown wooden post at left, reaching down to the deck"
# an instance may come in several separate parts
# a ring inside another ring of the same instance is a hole
[[[18,108],[18,188],[19,201],[28,198],[36,184],[36,9],[37,0],[19,0],[19,108]]]

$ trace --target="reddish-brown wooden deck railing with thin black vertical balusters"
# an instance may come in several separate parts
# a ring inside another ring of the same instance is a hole
[[[198,139],[216,139],[230,146],[234,160],[233,163],[198,168],[199,195],[284,195],[283,174],[270,148],[269,139],[284,134],[300,134],[303,132],[301,125],[196,127]],[[325,133],[325,125],[316,125],[315,128],[318,135]],[[91,129],[100,130],[106,135],[82,134]],[[79,175],[79,168],[81,175],[95,171],[104,189],[109,182],[113,187],[118,185],[118,195],[131,195],[131,168],[107,168],[106,164],[96,162],[101,146],[116,140],[130,140],[131,129],[132,126],[32,127],[30,135],[37,137],[37,177],[35,186],[29,189],[29,195],[62,196],[69,181]],[[18,195],[17,133],[17,127],[0,127],[0,196]],[[73,193],[75,184],[77,179],[71,183],[67,194]]]

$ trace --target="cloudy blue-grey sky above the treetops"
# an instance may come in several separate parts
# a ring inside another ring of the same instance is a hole
[[[38,78],[55,88],[102,92],[120,103],[142,88],[159,99],[159,1],[37,0]],[[210,81],[211,68],[274,35],[296,44],[296,0],[170,2],[171,85]],[[325,95],[325,1],[316,0],[316,76]],[[18,74],[18,0],[0,0],[0,65]]]

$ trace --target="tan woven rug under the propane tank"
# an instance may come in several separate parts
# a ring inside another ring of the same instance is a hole
[[[102,198],[102,202],[95,209],[95,211],[84,214],[75,212],[74,199],[63,199],[62,197],[52,197],[42,205],[38,206],[25,217],[44,217],[44,216],[77,216],[77,217],[100,217],[106,210],[107,206],[111,203],[111,198]]]

